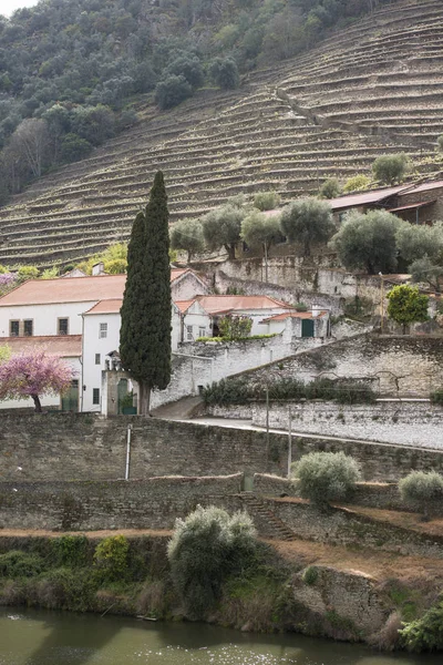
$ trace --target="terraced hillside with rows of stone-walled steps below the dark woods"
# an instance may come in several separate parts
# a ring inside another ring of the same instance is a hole
[[[240,192],[289,201],[393,151],[410,155],[411,176],[440,175],[442,64],[441,0],[400,0],[238,91],[163,114],[140,102],[136,127],[0,211],[0,263],[66,263],[126,238],[157,168],[172,221]]]

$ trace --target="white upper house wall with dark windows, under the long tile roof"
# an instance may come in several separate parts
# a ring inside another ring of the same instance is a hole
[[[82,334],[83,311],[95,305],[96,300],[84,303],[54,303],[51,305],[11,305],[0,307],[0,337],[10,337],[11,320],[32,320],[32,335],[47,336],[59,334],[59,319],[69,319],[69,335]]]

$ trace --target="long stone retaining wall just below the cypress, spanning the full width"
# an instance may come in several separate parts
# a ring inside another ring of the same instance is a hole
[[[286,475],[287,434],[144,419],[102,419],[68,413],[3,415],[0,481],[117,480],[125,475],[127,424],[133,426],[130,478],[219,475],[245,472]],[[443,472],[443,452],[382,443],[295,437],[292,460],[312,451],[340,450],[360,462],[363,479],[395,482],[412,469]]]

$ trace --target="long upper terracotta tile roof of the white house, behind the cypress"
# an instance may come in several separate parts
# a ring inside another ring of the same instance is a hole
[[[171,283],[188,268],[173,268]],[[0,298],[0,307],[10,305],[50,305],[59,303],[90,303],[123,298],[126,275],[96,275],[69,279],[29,279]]]

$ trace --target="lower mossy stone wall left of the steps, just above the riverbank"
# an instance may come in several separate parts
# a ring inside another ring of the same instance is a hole
[[[238,510],[243,474],[147,481],[0,482],[0,529],[173,529],[198,504]]]

